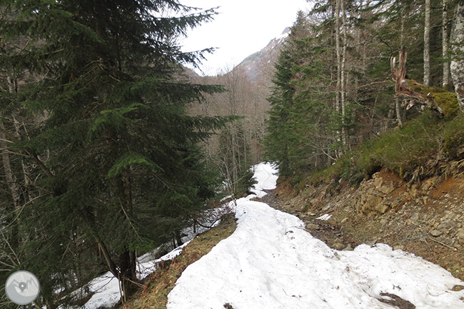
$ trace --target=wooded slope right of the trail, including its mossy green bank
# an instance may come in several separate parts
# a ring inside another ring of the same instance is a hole
[[[354,182],[381,166],[411,178],[417,161],[458,159],[461,14],[457,1],[339,0],[299,13],[276,64],[266,157],[297,177],[337,161]]]

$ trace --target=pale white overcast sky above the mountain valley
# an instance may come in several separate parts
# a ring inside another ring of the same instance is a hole
[[[297,10],[306,10],[306,0],[180,0],[186,6],[215,8],[215,20],[203,24],[181,42],[185,52],[208,47],[218,49],[201,66],[204,74],[215,75],[233,68],[258,52],[295,22]]]

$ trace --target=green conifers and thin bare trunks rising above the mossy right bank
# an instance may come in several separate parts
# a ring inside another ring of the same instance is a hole
[[[431,4],[433,87],[449,59],[441,58],[441,1]],[[424,3],[316,1],[311,13],[298,13],[275,65],[265,158],[280,164],[281,175],[299,177],[417,118],[422,111],[401,109],[394,97],[389,58],[399,50],[408,52],[407,78],[422,81]]]

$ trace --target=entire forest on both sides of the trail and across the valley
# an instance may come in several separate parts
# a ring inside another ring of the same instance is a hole
[[[462,1],[309,1],[253,81],[185,68],[216,11],[181,2],[0,1],[0,281],[33,272],[38,308],[105,271],[132,294],[137,257],[263,159],[295,184],[463,168]]]

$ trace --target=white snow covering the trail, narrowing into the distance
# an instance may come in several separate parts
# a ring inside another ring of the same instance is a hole
[[[274,189],[277,171],[256,166],[256,196]],[[394,308],[390,293],[416,308],[464,308],[464,282],[431,262],[385,244],[337,251],[304,230],[297,217],[265,203],[237,200],[238,227],[187,267],[169,294],[168,309]]]

